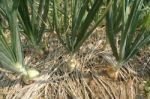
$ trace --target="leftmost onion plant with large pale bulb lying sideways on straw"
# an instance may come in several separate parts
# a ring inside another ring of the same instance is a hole
[[[39,72],[25,67],[17,23],[17,10],[20,0],[0,0],[0,12],[5,14],[8,21],[11,41],[4,37],[0,26],[0,64],[2,68],[22,74],[26,79],[32,79]]]

